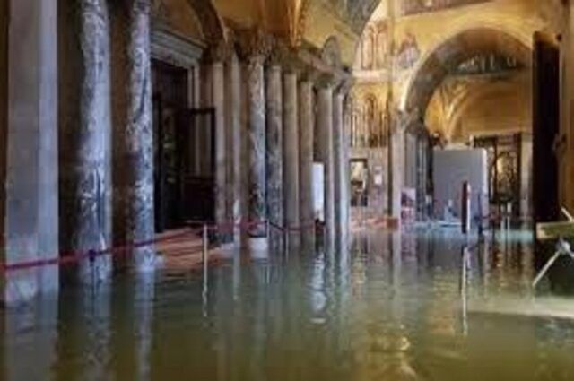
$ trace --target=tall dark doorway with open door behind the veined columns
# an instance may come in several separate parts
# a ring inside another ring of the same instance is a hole
[[[213,221],[214,111],[188,109],[187,69],[152,61],[155,228]]]

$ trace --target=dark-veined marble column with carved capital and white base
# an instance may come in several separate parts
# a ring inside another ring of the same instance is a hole
[[[248,220],[258,222],[249,229],[249,246],[255,251],[266,250],[267,231],[266,171],[265,171],[265,73],[264,62],[270,41],[259,30],[241,36],[240,46],[245,56],[248,125]]]

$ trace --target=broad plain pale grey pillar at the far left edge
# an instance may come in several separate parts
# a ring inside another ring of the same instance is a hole
[[[10,81],[0,203],[3,260],[15,264],[58,253],[57,0],[10,0],[7,13]],[[0,299],[7,305],[57,290],[57,266],[2,277]]]

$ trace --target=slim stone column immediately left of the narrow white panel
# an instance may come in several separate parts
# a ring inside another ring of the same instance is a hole
[[[313,85],[309,79],[299,84],[299,169],[300,169],[300,225],[307,226],[315,221],[313,197]],[[305,231],[302,243],[305,246],[313,245],[314,230]]]

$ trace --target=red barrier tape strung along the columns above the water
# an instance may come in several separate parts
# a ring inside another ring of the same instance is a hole
[[[262,224],[266,224],[266,221],[240,221],[239,223],[235,222],[227,222],[222,223],[219,225],[210,225],[207,227],[209,231],[216,231],[216,232],[225,232],[225,231],[233,231],[235,228],[239,228],[241,230],[250,230],[254,229],[257,226]],[[206,225],[205,221],[190,221],[190,225]],[[315,223],[309,225],[304,225],[300,227],[287,227],[284,228],[272,222],[269,222],[269,226],[278,229],[282,232],[287,231],[302,231],[304,229],[314,229]],[[49,259],[37,259],[33,261],[23,261],[14,264],[0,264],[0,273],[7,273],[17,270],[27,270],[36,267],[44,267],[44,266],[52,266],[52,265],[69,265],[69,264],[77,264],[83,260],[94,260],[103,255],[126,255],[130,250],[140,247],[148,247],[152,245],[156,245],[161,242],[168,242],[173,239],[182,238],[190,235],[201,234],[203,231],[202,229],[189,229],[186,231],[181,231],[177,233],[173,233],[169,236],[164,236],[161,238],[153,238],[147,239],[140,242],[134,242],[132,244],[126,244],[124,246],[119,247],[108,247],[105,249],[100,250],[87,250],[87,251],[75,251],[69,253],[62,253],[61,255],[49,258]]]

